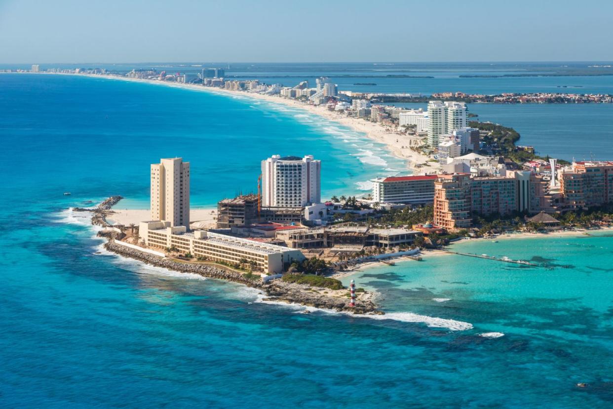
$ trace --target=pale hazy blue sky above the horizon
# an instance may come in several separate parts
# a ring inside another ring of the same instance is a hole
[[[0,64],[613,61],[613,0],[0,0]]]

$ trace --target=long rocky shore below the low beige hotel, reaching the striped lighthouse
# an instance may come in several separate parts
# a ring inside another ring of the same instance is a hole
[[[313,288],[307,285],[299,285],[295,283],[286,283],[281,280],[272,280],[264,283],[261,278],[248,278],[244,274],[225,270],[221,267],[210,266],[206,264],[187,264],[171,259],[162,258],[154,254],[144,253],[143,251],[132,248],[123,247],[116,244],[113,240],[105,243],[104,248],[121,256],[132,258],[151,266],[163,267],[165,269],[178,272],[194,273],[203,277],[218,278],[219,280],[232,281],[240,283],[251,288],[257,288],[263,291],[270,301],[288,302],[292,304],[302,304],[308,307],[328,308],[330,310],[352,312],[356,314],[383,314],[377,310],[376,304],[364,297],[359,296],[356,300],[356,307],[349,307],[349,298],[340,296],[329,296],[314,292]]]

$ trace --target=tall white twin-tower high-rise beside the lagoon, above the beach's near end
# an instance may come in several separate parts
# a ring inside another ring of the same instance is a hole
[[[464,102],[428,102],[428,145],[436,148],[441,135],[465,128],[466,117]]]

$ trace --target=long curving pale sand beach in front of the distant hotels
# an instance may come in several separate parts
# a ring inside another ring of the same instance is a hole
[[[162,85],[169,86],[173,88],[181,88],[184,90],[193,90],[193,91],[204,91],[208,93],[229,96],[229,97],[249,97],[255,101],[265,101],[271,104],[280,104],[286,107],[291,107],[293,109],[303,110],[305,113],[310,113],[313,115],[318,115],[318,117],[324,118],[329,121],[333,121],[340,126],[345,126],[346,128],[351,129],[355,132],[360,132],[364,134],[364,137],[374,142],[381,143],[385,146],[386,150],[390,153],[390,155],[394,156],[397,159],[401,159],[403,164],[405,165],[405,172],[408,171],[411,174],[416,173],[428,173],[428,172],[438,172],[439,166],[438,162],[434,164],[434,162],[428,162],[432,158],[422,155],[421,153],[417,153],[409,148],[411,145],[411,140],[420,140],[421,137],[413,136],[408,137],[406,134],[398,134],[394,132],[390,128],[386,128],[378,123],[372,123],[370,121],[361,120],[358,118],[349,118],[345,115],[341,115],[335,111],[329,111],[326,105],[311,105],[305,104],[303,102],[297,101],[295,99],[288,99],[281,96],[273,96],[267,94],[259,94],[259,93],[249,93],[246,91],[233,91],[226,90],[224,88],[211,87],[211,86],[202,86],[202,85],[191,85],[191,84],[183,84],[183,83],[175,83],[175,82],[167,82],[167,81],[156,81],[156,80],[146,80],[140,78],[127,78],[127,77],[118,77],[116,75],[104,75],[104,74],[64,74],[64,73],[51,73],[51,72],[32,72],[32,73],[24,73],[24,74],[45,74],[45,75],[73,75],[73,76],[81,76],[81,77],[89,77],[89,78],[105,78],[112,80],[120,80],[120,81],[128,81],[128,82],[136,82],[136,83],[148,83],[154,85]],[[412,139],[411,139],[412,138]],[[357,153],[357,152],[356,152]],[[434,165],[433,165],[434,164]],[[419,166],[417,166],[419,165]],[[385,171],[381,172],[381,177],[391,176],[392,174],[384,174]],[[394,173],[394,172],[392,172]],[[398,174],[395,172],[394,175]]]

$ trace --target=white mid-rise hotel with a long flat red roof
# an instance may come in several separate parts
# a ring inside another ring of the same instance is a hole
[[[407,205],[430,204],[434,200],[436,178],[436,175],[415,175],[371,179],[373,201]]]

